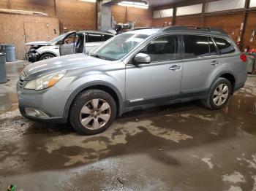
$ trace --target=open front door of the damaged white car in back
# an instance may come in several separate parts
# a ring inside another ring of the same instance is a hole
[[[59,46],[60,55],[75,54],[75,41],[77,40],[76,33],[69,34],[63,39],[62,44]]]

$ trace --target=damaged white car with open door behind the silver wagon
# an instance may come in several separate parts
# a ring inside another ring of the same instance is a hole
[[[48,42],[26,43],[26,46],[30,46],[26,58],[34,63],[56,56],[89,52],[113,36],[104,31],[70,31]]]

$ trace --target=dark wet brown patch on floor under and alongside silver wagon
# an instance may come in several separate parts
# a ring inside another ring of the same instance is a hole
[[[255,135],[255,103],[254,97],[233,95],[225,108],[215,111],[199,101],[137,110],[95,136],[79,136],[69,124],[31,122],[20,139],[2,149],[7,154],[0,163],[18,157],[26,161],[29,171],[47,171],[143,153],[159,163],[181,165],[170,152],[224,142],[244,132]]]

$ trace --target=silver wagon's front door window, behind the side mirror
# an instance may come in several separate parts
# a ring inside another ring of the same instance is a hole
[[[151,56],[151,62],[170,61],[178,58],[178,36],[161,36],[140,50]]]

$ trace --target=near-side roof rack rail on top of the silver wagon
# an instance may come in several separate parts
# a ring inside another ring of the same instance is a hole
[[[165,31],[204,31],[217,34],[227,34],[225,31],[219,28],[210,28],[205,26],[167,26],[162,28],[162,32]]]

